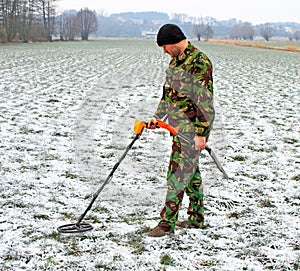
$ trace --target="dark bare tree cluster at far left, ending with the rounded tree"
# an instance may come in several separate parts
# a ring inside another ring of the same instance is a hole
[[[97,16],[89,9],[56,15],[57,0],[0,0],[0,41],[51,41],[53,36],[87,40],[97,31]]]

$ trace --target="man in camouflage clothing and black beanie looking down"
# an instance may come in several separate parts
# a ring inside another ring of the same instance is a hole
[[[203,228],[204,207],[199,155],[204,150],[214,120],[212,63],[189,41],[174,24],[162,26],[157,44],[170,55],[157,110],[148,121],[148,128],[157,128],[157,119],[168,119],[184,137],[173,136],[167,173],[167,195],[160,213],[161,221],[149,236],[161,237],[174,233],[175,227]],[[187,220],[178,222],[184,193],[189,197]]]

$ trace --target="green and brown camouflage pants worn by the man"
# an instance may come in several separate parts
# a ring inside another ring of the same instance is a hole
[[[189,197],[188,222],[203,225],[203,187],[199,171],[199,154],[191,144],[173,137],[172,152],[167,174],[167,196],[162,209],[161,225],[174,231],[184,193]]]

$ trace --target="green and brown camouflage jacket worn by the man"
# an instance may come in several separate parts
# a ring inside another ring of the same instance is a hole
[[[167,116],[179,132],[208,138],[214,113],[212,63],[189,42],[184,53],[170,61],[154,116]]]

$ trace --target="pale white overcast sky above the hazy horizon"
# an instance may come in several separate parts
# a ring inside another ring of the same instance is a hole
[[[300,23],[300,0],[59,0],[60,9],[89,8],[105,16],[120,12],[158,11],[169,15],[214,17],[217,20],[236,18],[243,22]]]

